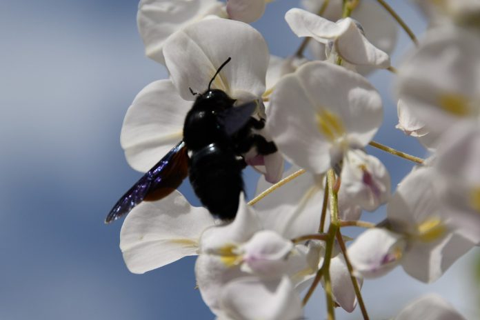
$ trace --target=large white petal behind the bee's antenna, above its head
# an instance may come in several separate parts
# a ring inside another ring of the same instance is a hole
[[[212,88],[232,99],[251,101],[265,91],[268,47],[261,34],[246,23],[208,19],[173,34],[163,47],[166,66],[183,99],[205,92],[217,69],[232,58],[215,78]]]

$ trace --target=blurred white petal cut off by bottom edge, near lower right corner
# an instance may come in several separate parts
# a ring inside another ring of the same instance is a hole
[[[465,320],[450,303],[437,294],[428,294],[412,301],[394,320]]]

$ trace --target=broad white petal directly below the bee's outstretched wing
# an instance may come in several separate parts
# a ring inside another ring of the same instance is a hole
[[[120,232],[128,270],[143,273],[197,254],[201,232],[213,224],[206,209],[190,206],[178,191],[159,201],[140,203]]]

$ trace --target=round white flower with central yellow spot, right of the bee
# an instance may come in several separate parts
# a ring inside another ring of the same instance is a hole
[[[315,174],[372,139],[382,120],[380,96],[355,72],[321,61],[283,77],[266,128],[287,159]]]

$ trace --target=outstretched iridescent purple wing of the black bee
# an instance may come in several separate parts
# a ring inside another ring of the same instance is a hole
[[[168,196],[180,186],[181,181],[187,175],[187,148],[185,142],[180,141],[165,157],[148,170],[130,190],[123,194],[110,210],[105,223],[119,219],[141,201],[154,201]]]

